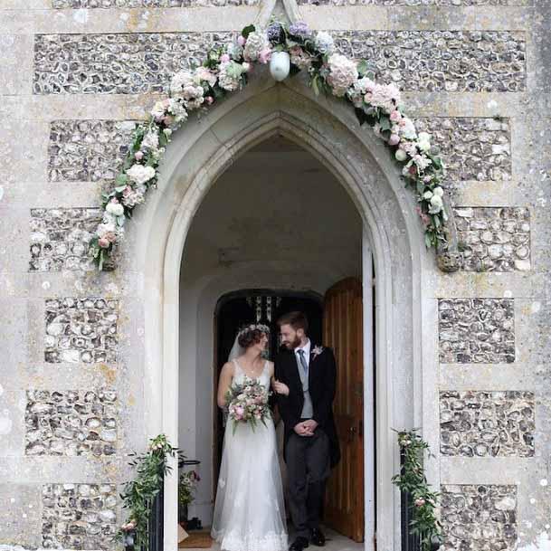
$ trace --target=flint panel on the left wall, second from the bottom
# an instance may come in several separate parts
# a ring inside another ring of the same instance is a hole
[[[27,391],[27,455],[113,455],[117,394],[110,390]]]

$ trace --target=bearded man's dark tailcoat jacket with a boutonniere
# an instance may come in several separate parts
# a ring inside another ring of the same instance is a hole
[[[331,445],[331,466],[340,459],[337,428],[333,417],[333,400],[337,385],[337,365],[331,348],[324,347],[318,355],[316,346],[310,346],[309,393],[314,407],[313,419],[328,435]],[[285,424],[285,444],[289,441],[294,427],[300,423],[300,414],[304,404],[304,393],[300,382],[299,366],[293,350],[283,350],[275,360],[275,378],[289,386],[289,396],[277,394],[277,404]]]

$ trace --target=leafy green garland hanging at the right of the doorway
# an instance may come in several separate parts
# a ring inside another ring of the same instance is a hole
[[[411,534],[421,540],[421,551],[433,551],[442,544],[442,526],[436,518],[435,509],[439,494],[430,489],[423,470],[423,454],[429,444],[413,431],[398,432],[398,444],[403,455],[400,474],[393,477],[393,483],[413,499]]]

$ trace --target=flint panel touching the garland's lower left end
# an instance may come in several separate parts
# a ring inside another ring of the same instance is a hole
[[[29,271],[92,270],[89,243],[100,208],[31,209]]]

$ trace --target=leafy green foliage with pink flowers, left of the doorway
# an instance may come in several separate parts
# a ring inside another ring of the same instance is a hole
[[[117,538],[133,531],[137,549],[146,549],[148,543],[148,521],[151,504],[163,487],[164,478],[171,468],[166,460],[176,457],[177,448],[159,434],[149,441],[147,451],[141,455],[132,454],[135,459],[129,464],[135,468],[136,477],[125,484],[120,494],[122,507],[128,510],[128,522],[120,527]]]

